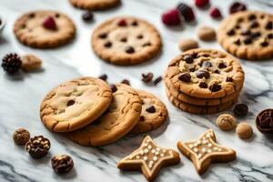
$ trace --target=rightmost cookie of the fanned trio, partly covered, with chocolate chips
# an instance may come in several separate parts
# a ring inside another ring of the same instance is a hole
[[[167,108],[157,96],[143,90],[136,90],[142,100],[141,116],[131,134],[139,134],[157,129],[167,120]]]

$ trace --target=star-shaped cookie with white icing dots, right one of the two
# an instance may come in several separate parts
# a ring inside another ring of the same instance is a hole
[[[228,162],[236,158],[234,150],[217,145],[212,129],[207,130],[197,141],[177,142],[177,147],[183,155],[192,160],[199,175],[202,175],[211,163]]]

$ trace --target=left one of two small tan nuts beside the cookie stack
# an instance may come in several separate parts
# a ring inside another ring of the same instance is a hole
[[[224,131],[229,131],[237,126],[236,119],[234,116],[223,114],[217,117],[217,126]]]

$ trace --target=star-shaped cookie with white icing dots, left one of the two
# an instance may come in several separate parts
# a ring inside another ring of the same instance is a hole
[[[121,159],[117,167],[122,170],[141,170],[148,181],[157,176],[161,167],[177,165],[179,154],[172,149],[158,147],[150,136],[146,136],[139,148]]]

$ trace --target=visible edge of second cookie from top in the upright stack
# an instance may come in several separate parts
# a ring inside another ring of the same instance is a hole
[[[168,92],[177,98],[177,100],[180,100],[182,102],[188,103],[190,105],[196,105],[196,106],[217,106],[224,103],[229,102],[232,99],[235,99],[239,96],[238,93],[234,93],[225,97],[219,97],[219,98],[198,98],[194,96],[188,96],[187,94],[184,94],[183,92],[177,91],[170,83],[170,81],[167,79],[167,77],[164,78],[165,85],[167,87]]]

